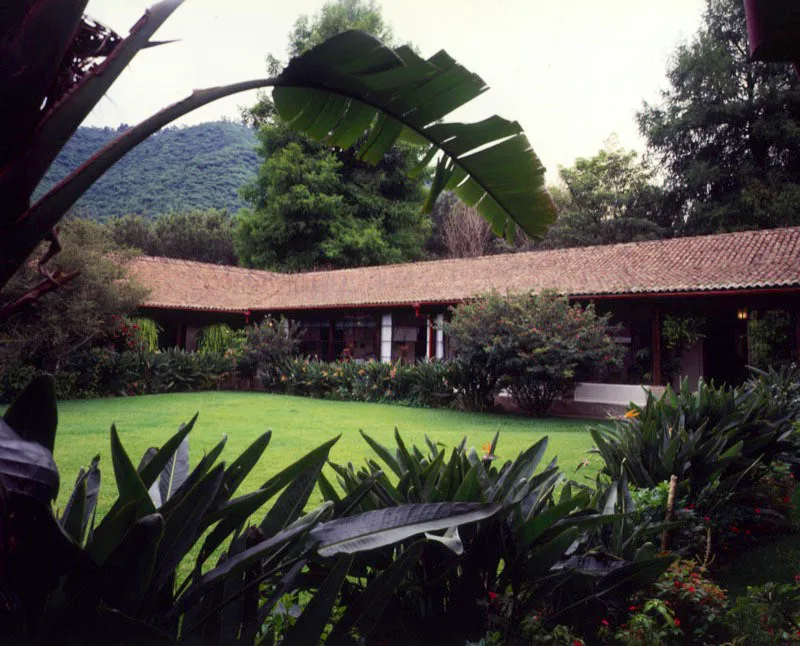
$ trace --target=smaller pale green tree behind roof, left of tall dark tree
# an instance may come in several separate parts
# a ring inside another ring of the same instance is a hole
[[[616,137],[594,157],[560,168],[562,186],[551,188],[559,206],[556,223],[541,247],[563,248],[633,242],[664,237],[668,210],[653,172]]]

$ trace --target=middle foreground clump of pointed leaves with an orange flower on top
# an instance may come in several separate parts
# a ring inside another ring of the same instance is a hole
[[[426,438],[423,451],[408,448],[399,432],[394,450],[362,436],[383,466],[372,459],[359,469],[331,464],[347,496],[363,494],[354,512],[444,501],[491,503],[499,512],[429,533],[428,544],[409,541],[358,555],[351,571],[367,583],[345,588],[347,611],[330,635],[333,643],[352,643],[357,634],[366,643],[463,644],[480,639],[490,623],[513,633],[543,608],[581,623],[623,603],[671,562],[650,549],[631,549],[630,560],[598,554],[595,531],[625,517],[617,490],[600,495],[578,487],[555,460],[540,468],[547,438],[499,464],[498,435],[482,454],[468,449],[466,438],[450,451]],[[320,488],[334,507],[342,504],[324,475]],[[628,538],[637,540],[630,532]],[[387,592],[388,580],[392,587],[402,582],[396,593]]]

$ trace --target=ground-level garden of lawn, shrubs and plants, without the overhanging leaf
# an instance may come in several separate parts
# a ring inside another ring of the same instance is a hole
[[[55,377],[31,369],[1,427],[6,630],[800,642],[796,367],[557,420],[555,398],[620,360],[608,317],[487,294],[446,325],[456,359],[391,364],[297,357],[302,330],[271,318],[162,350],[153,321],[118,317]],[[56,413],[58,390],[84,399]],[[528,414],[497,414],[501,390]]]

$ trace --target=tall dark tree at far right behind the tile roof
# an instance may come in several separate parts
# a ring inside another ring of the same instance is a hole
[[[741,0],[708,0],[639,128],[680,207],[679,234],[800,224],[800,81],[751,63]]]

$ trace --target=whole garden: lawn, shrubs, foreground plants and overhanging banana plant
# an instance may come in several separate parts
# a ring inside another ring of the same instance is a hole
[[[270,318],[206,329],[188,353],[128,316],[124,258],[89,224],[57,225],[139,142],[247,89],[359,163],[426,147],[410,169],[435,159],[425,209],[453,191],[509,242],[556,215],[517,122],[445,120],[482,79],[354,30],[193,92],[34,197],[180,4],[124,38],[82,3],[3,22],[2,641],[800,643],[796,366],[566,422],[542,416],[621,350],[607,317],[554,294],[462,303],[456,358],[417,364],[296,357],[299,330]],[[54,268],[70,254],[82,269]],[[528,415],[491,415],[501,391]]]

